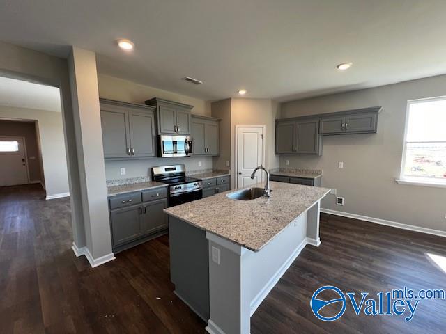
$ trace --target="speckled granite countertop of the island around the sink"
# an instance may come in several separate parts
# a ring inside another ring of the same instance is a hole
[[[264,184],[256,184],[263,188]],[[167,214],[257,252],[330,189],[270,182],[270,198],[232,200],[227,193],[164,209]]]

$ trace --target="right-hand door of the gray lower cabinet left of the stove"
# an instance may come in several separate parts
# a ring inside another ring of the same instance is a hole
[[[141,233],[143,235],[167,228],[167,214],[163,211],[165,208],[167,208],[166,199],[144,203],[144,213],[141,214]]]

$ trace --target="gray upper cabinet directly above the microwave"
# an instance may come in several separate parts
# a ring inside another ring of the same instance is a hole
[[[158,134],[190,134],[192,120],[190,111],[194,106],[153,97],[146,104],[157,109]]]

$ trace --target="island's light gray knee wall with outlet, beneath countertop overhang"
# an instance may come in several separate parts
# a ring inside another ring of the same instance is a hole
[[[209,240],[209,333],[249,334],[250,317],[307,244],[307,212],[259,252],[206,233]],[[213,257],[215,249],[220,256]]]

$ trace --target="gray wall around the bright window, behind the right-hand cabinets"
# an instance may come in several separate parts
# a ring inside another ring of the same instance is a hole
[[[324,136],[322,157],[281,156],[280,166],[323,170],[322,185],[345,197],[322,202],[325,209],[446,230],[446,189],[401,185],[399,177],[408,100],[446,95],[446,75],[326,95],[282,104],[281,117],[383,106],[377,134]],[[338,168],[344,161],[344,169]]]

